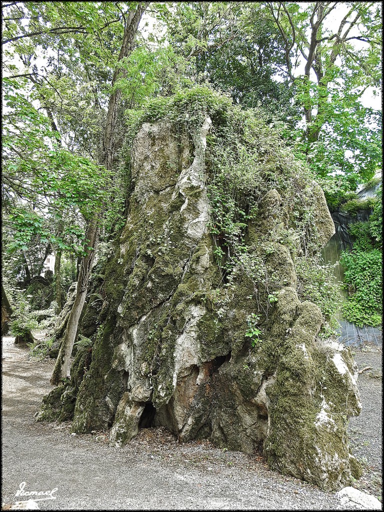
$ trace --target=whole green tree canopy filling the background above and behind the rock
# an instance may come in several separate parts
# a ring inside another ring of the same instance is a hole
[[[137,122],[197,86],[274,125],[330,207],[381,168],[381,112],[365,100],[381,87],[378,2],[2,9],[3,259],[13,283],[38,276],[52,252],[79,264],[96,249],[96,218],[95,243],[118,232]]]

